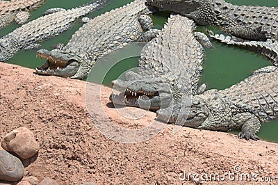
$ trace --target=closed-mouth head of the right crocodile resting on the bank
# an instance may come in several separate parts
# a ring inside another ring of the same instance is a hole
[[[238,127],[236,121],[231,123],[231,107],[216,90],[186,98],[172,107],[159,109],[158,120],[198,129],[228,131]]]

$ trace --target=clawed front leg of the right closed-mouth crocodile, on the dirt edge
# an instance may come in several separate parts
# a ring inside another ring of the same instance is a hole
[[[259,132],[261,128],[261,122],[259,118],[251,113],[239,113],[235,116],[238,122],[244,122],[241,127],[241,131],[238,134],[239,138],[246,138],[249,140],[250,138],[253,140],[258,140],[259,137],[256,136],[256,133]]]

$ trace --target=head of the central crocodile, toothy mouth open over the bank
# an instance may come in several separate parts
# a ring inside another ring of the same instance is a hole
[[[133,77],[129,79],[127,76]],[[135,72],[128,72],[126,80],[116,79],[112,81],[113,89],[120,90],[120,94],[115,95],[113,92],[110,96],[111,102],[150,111],[167,107],[172,102],[172,89],[167,82],[161,78],[139,76],[140,74]]]

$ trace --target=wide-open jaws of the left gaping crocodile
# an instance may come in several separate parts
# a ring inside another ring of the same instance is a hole
[[[75,59],[55,57],[51,51],[41,49],[37,51],[37,57],[46,59],[44,65],[37,67],[35,72],[44,75],[56,75],[59,77],[72,77],[79,70],[79,61]]]

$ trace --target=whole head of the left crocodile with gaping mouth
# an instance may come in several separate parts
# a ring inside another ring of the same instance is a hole
[[[59,49],[52,51],[40,49],[37,51],[37,56],[46,59],[44,65],[35,69],[38,74],[56,75],[59,77],[73,77],[83,61],[81,57]]]

